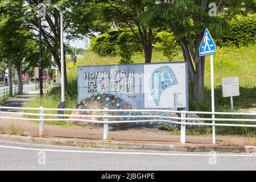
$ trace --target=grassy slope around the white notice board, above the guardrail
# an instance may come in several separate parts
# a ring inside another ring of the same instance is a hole
[[[238,77],[240,96],[233,97],[234,109],[256,107],[256,46],[241,48],[221,48],[214,55],[214,92],[216,109],[230,109],[230,98],[222,97],[221,80],[226,77]],[[210,103],[210,60],[205,64],[205,104]],[[193,107],[192,107],[193,108]],[[210,110],[210,107],[205,109]]]

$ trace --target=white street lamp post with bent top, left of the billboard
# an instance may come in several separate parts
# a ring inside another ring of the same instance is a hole
[[[57,5],[53,5],[60,11],[60,67],[61,67],[61,102],[65,101],[65,80],[64,80],[64,43],[63,43],[63,13]]]

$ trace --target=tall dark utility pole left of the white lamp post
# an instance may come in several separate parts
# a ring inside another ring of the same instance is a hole
[[[42,13],[41,9],[41,0],[38,0],[39,6],[39,89],[40,96],[43,96],[43,58],[42,58]]]

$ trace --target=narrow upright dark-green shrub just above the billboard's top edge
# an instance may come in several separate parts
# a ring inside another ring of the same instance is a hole
[[[117,39],[117,54],[121,57],[119,64],[131,64],[131,56],[135,52],[134,39],[128,32],[122,32]]]

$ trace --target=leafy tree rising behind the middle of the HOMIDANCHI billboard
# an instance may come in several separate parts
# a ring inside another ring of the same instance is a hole
[[[143,0],[115,1],[99,0],[104,5],[102,14],[107,22],[114,22],[113,27],[126,28],[133,33],[144,51],[145,63],[151,62],[152,56],[152,29],[156,27],[142,23],[142,15],[147,9]]]

